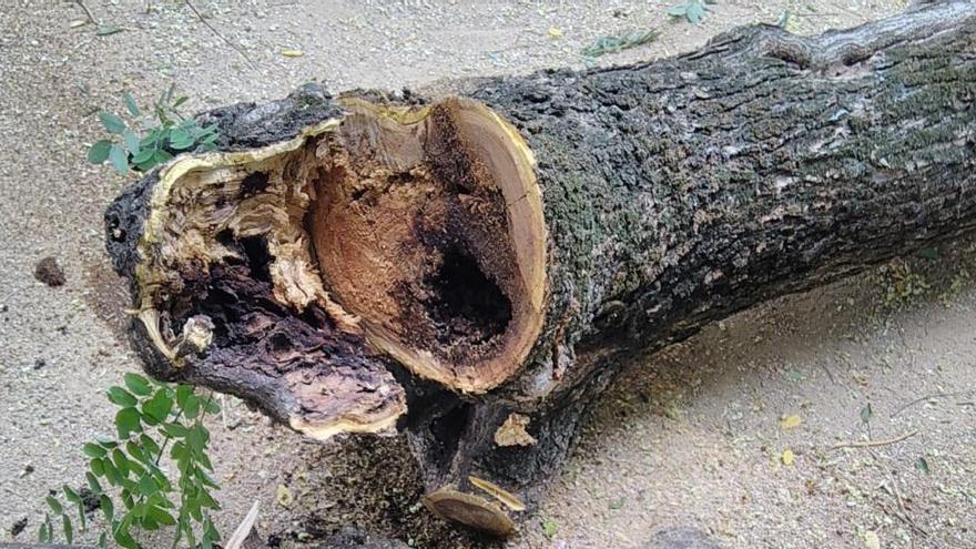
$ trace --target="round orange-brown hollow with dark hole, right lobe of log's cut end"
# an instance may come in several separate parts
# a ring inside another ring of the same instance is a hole
[[[542,322],[546,235],[528,146],[474,101],[345,106],[309,212],[323,278],[415,374],[496,387]]]

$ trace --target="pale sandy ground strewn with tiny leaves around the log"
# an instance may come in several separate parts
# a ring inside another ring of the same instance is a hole
[[[786,9],[807,33],[903,9],[723,0],[693,27],[669,22],[661,1],[197,0],[245,59],[183,2],[87,4],[125,31],[72,27],[83,13],[70,2],[0,2],[0,541],[23,518],[16,539],[33,539],[47,490],[82,481],[80,444],[111,428],[102,392],[139,367],[119,337],[125,296],[101,244],[101,213],[125,181],[84,160],[100,138],[93,114],[121,111],[123,91],[145,103],[175,82],[205,109],[281,96],[309,80],[336,90],[419,87],[582,67],[584,45],[629,29],[663,33],[600,63],[690,50]],[[45,255],[64,266],[65,286],[33,279]],[[976,287],[967,273],[976,275],[974,245],[954,243],[937,260],[773,302],[648,358],[599,404],[543,509],[508,546],[642,547],[662,528],[694,526],[730,548],[976,547]],[[794,415],[799,426],[784,428]],[[867,429],[875,440],[912,436],[832,449]],[[213,430],[224,531],[257,499],[261,531],[283,546],[342,523],[416,547],[486,545],[420,508],[401,441],[311,444],[230,398]],[[276,500],[278,486],[295,496],[289,508]]]

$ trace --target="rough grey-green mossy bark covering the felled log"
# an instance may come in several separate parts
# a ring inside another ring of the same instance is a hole
[[[403,388],[409,411],[399,427],[428,488],[485,495],[472,476],[532,502],[588,403],[633,356],[763,299],[973,230],[974,51],[976,4],[944,2],[817,38],[750,27],[663,61],[461,83],[535,156],[549,293],[529,358],[487,394],[454,393],[382,355],[350,355]],[[241,149],[339,113],[306,89],[205,118],[222,121],[224,148]],[[109,251],[130,276],[154,183],[150,174],[106,214]],[[286,416],[274,383],[248,377],[257,365],[175,372],[138,325],[133,333],[152,373]],[[449,506],[438,511],[471,523]]]

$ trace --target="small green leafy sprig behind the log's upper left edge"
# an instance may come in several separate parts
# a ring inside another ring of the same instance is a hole
[[[192,118],[183,116],[180,106],[187,98],[174,96],[174,90],[175,87],[171,85],[159,96],[152,118],[143,113],[129,92],[123,94],[129,123],[118,114],[99,112],[99,120],[113,138],[95,141],[88,150],[88,161],[92,164],[109,162],[124,175],[129,170],[146,172],[183,151],[213,149],[220,139],[216,125],[202,126]],[[141,128],[143,135],[140,136],[134,128]]]

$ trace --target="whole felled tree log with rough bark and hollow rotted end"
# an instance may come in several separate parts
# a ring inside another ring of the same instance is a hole
[[[630,67],[303,88],[109,207],[146,370],[305,435],[405,431],[506,533],[620,367],[976,226],[976,4]]]

